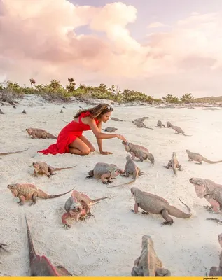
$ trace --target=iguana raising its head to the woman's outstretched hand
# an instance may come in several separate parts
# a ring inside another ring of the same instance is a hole
[[[139,158],[139,160],[143,162],[148,159],[151,161],[151,165],[154,165],[155,160],[152,153],[149,153],[148,149],[144,146],[134,145],[131,142],[125,141],[122,141],[122,144],[124,145],[125,151],[132,155],[132,160],[134,160],[134,158]]]

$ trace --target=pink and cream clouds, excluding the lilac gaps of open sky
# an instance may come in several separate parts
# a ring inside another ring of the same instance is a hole
[[[146,44],[132,38],[127,29],[136,19],[137,8],[121,2],[95,8],[66,0],[0,0],[0,76],[6,74],[21,84],[29,78],[37,83],[53,78],[66,82],[74,76],[128,87],[132,80],[135,89],[146,91],[147,79],[150,86],[160,76],[174,80],[187,73],[192,88],[194,73],[201,75],[204,69],[212,78],[221,71],[220,15],[192,13],[169,31],[147,34]],[[83,25],[92,34],[77,35],[75,29]],[[149,27],[160,25],[153,22]]]

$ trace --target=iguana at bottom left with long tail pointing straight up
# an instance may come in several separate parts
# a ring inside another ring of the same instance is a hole
[[[27,239],[29,246],[29,267],[30,276],[73,276],[62,265],[56,267],[46,258],[45,255],[37,255],[32,243],[32,237],[29,230],[27,218],[25,216],[27,226]]]

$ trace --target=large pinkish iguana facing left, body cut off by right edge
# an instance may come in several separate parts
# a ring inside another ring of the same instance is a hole
[[[211,204],[210,207],[205,208],[214,213],[222,210],[222,185],[202,178],[190,178],[189,182],[195,187],[197,197],[204,197]]]

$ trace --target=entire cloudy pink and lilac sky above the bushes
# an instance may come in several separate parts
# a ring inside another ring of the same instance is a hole
[[[222,0],[0,0],[0,80],[222,95]]]

